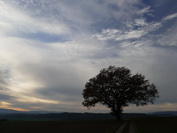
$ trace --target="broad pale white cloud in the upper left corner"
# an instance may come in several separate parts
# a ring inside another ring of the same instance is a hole
[[[69,34],[69,28],[60,22],[44,21],[41,18],[34,18],[22,12],[21,10],[7,5],[5,2],[0,2],[1,6],[1,34],[6,33],[8,36],[23,37],[36,34],[66,35]],[[40,36],[38,36],[40,37]],[[41,36],[42,37],[42,36]]]

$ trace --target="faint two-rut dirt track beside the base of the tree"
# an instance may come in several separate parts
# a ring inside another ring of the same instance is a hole
[[[120,126],[120,128],[115,133],[122,133],[128,122],[125,122]],[[128,133],[137,133],[135,122],[131,122],[129,125]]]

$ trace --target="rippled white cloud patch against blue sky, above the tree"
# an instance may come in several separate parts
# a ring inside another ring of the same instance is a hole
[[[124,41],[131,39],[140,39],[150,32],[161,27],[159,22],[147,23],[145,19],[135,19],[134,22],[126,22],[122,29],[103,29],[101,33],[93,35],[99,40]]]

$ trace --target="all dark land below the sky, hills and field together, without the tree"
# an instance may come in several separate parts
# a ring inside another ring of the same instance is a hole
[[[129,130],[133,133],[163,133],[177,131],[176,122],[177,111],[123,113],[122,120],[117,121],[109,113],[0,109],[1,133],[118,133],[120,129],[123,133],[129,133]]]

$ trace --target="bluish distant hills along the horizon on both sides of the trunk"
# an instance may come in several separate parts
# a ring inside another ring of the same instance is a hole
[[[140,118],[149,116],[177,116],[177,111],[161,111],[153,113],[123,113],[122,118]],[[68,113],[51,111],[16,111],[11,109],[0,109],[1,120],[100,120],[115,119],[109,113]]]

